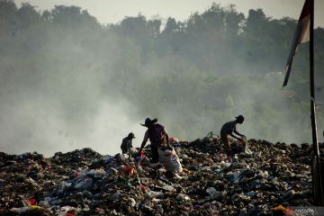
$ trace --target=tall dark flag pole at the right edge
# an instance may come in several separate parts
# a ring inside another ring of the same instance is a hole
[[[313,184],[318,184],[318,190],[320,192],[316,192],[313,186],[314,200],[319,205],[323,203],[323,194],[322,194],[322,178],[320,173],[320,150],[317,136],[317,126],[316,126],[316,111],[315,111],[315,74],[314,74],[314,0],[311,0],[311,26],[310,26],[310,86],[311,86],[311,131],[312,131],[312,142],[313,142],[313,152],[314,152],[314,162],[317,164],[316,170],[312,170],[313,172]],[[319,177],[319,181],[316,183],[314,176],[314,172],[317,172]],[[315,181],[315,182],[314,182]],[[319,194],[318,197],[316,194]]]

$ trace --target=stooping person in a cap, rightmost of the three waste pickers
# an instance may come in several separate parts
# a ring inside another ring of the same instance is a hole
[[[234,120],[234,121],[226,122],[221,127],[221,130],[220,130],[220,138],[221,138],[222,142],[224,143],[224,148],[229,155],[231,155],[229,136],[231,136],[232,138],[238,139],[238,140],[242,140],[243,138],[245,138],[245,136],[243,134],[239,133],[238,130],[236,129],[236,125],[238,123],[239,124],[243,123],[243,121],[244,121],[243,115],[238,115],[237,117],[235,117],[235,119],[236,120]],[[240,136],[240,138],[238,138],[234,134],[237,134],[238,136]]]

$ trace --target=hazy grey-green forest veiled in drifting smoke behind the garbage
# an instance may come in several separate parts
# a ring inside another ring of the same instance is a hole
[[[40,13],[0,1],[0,9],[1,151],[50,157],[89,147],[114,154],[130,131],[139,147],[146,117],[157,117],[170,136],[192,140],[219,134],[238,114],[246,118],[238,131],[249,139],[311,141],[305,46],[293,66],[296,78],[281,90],[293,20],[283,27],[262,11],[245,18],[212,4],[187,23],[139,15],[103,26],[77,7]],[[238,23],[224,25],[230,15]],[[268,22],[270,36],[254,29],[258,22]],[[275,34],[279,27],[286,33]],[[279,39],[285,41],[275,49]]]

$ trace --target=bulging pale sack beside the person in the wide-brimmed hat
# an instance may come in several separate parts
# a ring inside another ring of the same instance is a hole
[[[175,148],[157,149],[159,161],[166,167],[167,171],[181,173],[183,167],[181,166],[180,159],[176,155]]]

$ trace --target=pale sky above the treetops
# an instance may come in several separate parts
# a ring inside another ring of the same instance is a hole
[[[246,14],[249,9],[262,8],[267,16],[284,16],[298,19],[304,0],[14,0],[20,6],[28,2],[40,11],[50,10],[54,5],[76,5],[86,9],[98,22],[118,23],[125,16],[142,14],[148,19],[155,15],[161,18],[174,17],[184,21],[190,14],[202,13],[213,2],[221,6],[237,5],[238,12]],[[324,26],[324,1],[315,0],[315,26]]]

